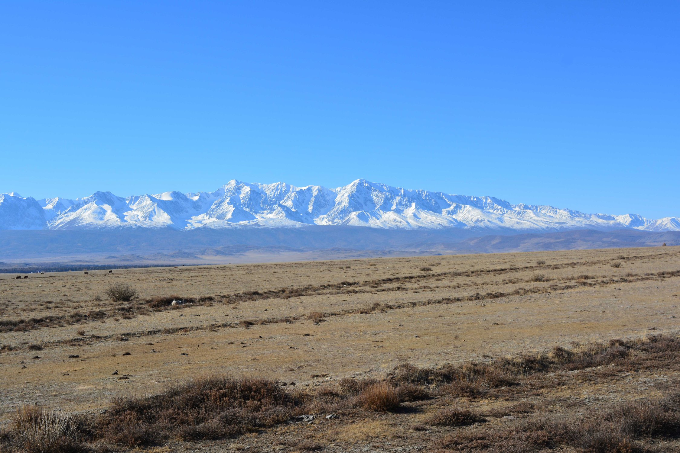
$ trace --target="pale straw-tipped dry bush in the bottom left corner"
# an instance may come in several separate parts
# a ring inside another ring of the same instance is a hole
[[[65,414],[22,405],[7,433],[14,448],[27,453],[76,453],[83,451],[80,435]]]

